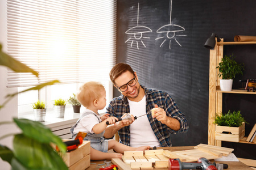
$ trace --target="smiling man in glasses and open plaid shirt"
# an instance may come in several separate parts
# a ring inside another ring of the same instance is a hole
[[[122,120],[109,126],[105,137],[111,138],[118,131],[120,142],[125,145],[166,147],[172,146],[170,134],[188,130],[188,121],[171,96],[139,84],[137,73],[130,65],[118,63],[109,75],[122,95],[110,101],[106,113],[118,118],[130,113],[132,120]],[[157,108],[154,115],[151,114],[153,108]],[[135,120],[134,116],[138,119]]]

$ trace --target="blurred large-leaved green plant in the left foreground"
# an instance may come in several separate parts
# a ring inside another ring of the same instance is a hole
[[[32,73],[38,76],[36,71],[2,52],[1,44],[0,65],[9,67],[15,72]],[[7,95],[4,103],[0,105],[0,109],[14,96],[22,92],[39,90],[55,83],[59,83],[59,81],[53,80],[52,82],[39,84],[27,90]],[[13,150],[0,144],[0,157],[11,165],[11,169],[68,169],[60,155],[52,148],[52,143],[55,143],[63,153],[66,152],[67,147],[59,137],[42,123],[24,118],[13,118],[12,121],[0,122],[0,125],[4,124],[16,124],[21,130],[19,133],[6,134],[0,137],[0,139],[3,139],[14,135]]]

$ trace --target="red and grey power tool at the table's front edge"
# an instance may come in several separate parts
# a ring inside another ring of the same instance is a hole
[[[169,160],[169,170],[181,169],[202,169],[202,170],[218,170],[215,163],[209,162],[206,158],[200,158],[197,163],[181,162],[180,159]]]

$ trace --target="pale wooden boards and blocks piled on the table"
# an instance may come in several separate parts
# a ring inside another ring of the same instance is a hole
[[[128,151],[120,159],[112,159],[112,162],[118,165],[119,169],[161,169],[168,168],[169,160],[179,158],[181,162],[197,162],[199,158],[217,159],[222,156],[228,156],[234,149],[200,144],[193,150],[168,151],[168,150],[147,150]]]

